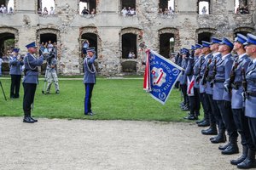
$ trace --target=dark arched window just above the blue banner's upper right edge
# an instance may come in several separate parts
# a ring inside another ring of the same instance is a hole
[[[165,58],[169,58],[174,51],[174,34],[163,33],[160,34],[160,54]]]

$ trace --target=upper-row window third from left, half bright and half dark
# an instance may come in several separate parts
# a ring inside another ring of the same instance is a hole
[[[96,0],[80,0],[79,14],[96,14]]]

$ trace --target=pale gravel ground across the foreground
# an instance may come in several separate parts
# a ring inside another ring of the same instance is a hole
[[[0,118],[1,170],[236,169],[195,123]]]

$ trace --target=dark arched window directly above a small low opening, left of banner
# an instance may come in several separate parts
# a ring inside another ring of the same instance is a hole
[[[122,58],[137,59],[137,35],[126,33],[122,35]]]

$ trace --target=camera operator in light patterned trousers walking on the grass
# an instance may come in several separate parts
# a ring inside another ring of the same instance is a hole
[[[55,94],[60,94],[60,87],[59,87],[59,82],[58,82],[58,77],[57,77],[57,71],[56,71],[56,66],[57,66],[57,59],[55,58],[54,52],[49,53],[49,59],[47,59],[47,89],[46,89],[46,94],[49,94],[50,86],[52,82],[55,82]]]

